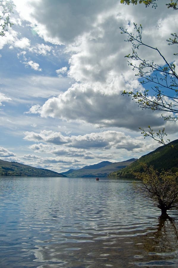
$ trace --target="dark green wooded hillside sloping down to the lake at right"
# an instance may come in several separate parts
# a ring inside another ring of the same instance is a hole
[[[171,144],[174,147],[178,148],[178,139],[172,141]],[[132,171],[141,171],[140,163],[147,163],[148,166],[152,165],[158,171],[161,170],[171,170],[173,172],[178,171],[178,149],[174,149],[163,145],[158,147],[156,150],[148,153],[147,155],[143,155],[137,161],[132,163],[130,166],[125,167],[122,170],[118,170],[116,172],[112,172],[108,177],[124,177],[131,178],[133,177]]]

